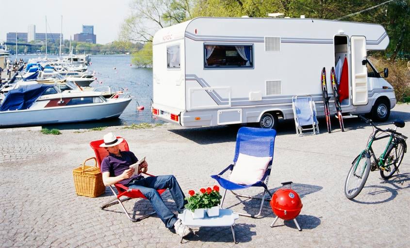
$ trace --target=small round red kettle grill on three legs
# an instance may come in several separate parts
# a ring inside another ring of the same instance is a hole
[[[299,215],[300,210],[302,210],[302,201],[300,200],[299,195],[291,189],[292,182],[282,182],[282,186],[289,185],[288,189],[279,189],[277,190],[270,200],[270,206],[272,207],[273,212],[276,215],[276,218],[273,220],[270,227],[275,225],[275,222],[278,218],[283,220],[291,220],[295,222],[297,230],[302,231],[299,227],[299,224],[296,221],[297,215]]]

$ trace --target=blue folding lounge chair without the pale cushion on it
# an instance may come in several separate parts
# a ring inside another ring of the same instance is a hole
[[[269,192],[267,188],[267,184],[269,181],[269,175],[271,172],[272,167],[272,160],[269,162],[262,179],[258,182],[255,182],[250,185],[244,184],[237,184],[234,182],[230,182],[229,180],[222,178],[221,176],[228,170],[232,171],[234,168],[236,161],[238,160],[239,153],[246,154],[249,156],[254,157],[272,157],[273,159],[273,148],[275,145],[275,137],[276,137],[276,130],[274,129],[261,129],[261,128],[248,128],[242,127],[239,129],[238,134],[236,136],[236,149],[235,149],[235,156],[233,158],[233,164],[229,165],[223,171],[221,171],[218,175],[211,176],[215,179],[222,188],[225,189],[221,200],[221,208],[224,204],[225,196],[227,190],[230,190],[235,196],[237,197],[246,197],[246,198],[257,198],[261,200],[261,207],[259,209],[259,213],[256,215],[250,215],[245,213],[236,213],[243,216],[248,216],[252,218],[257,218],[261,216],[263,202],[265,200],[266,192],[272,197],[272,194]],[[249,165],[252,166],[252,165]],[[252,197],[243,194],[238,194],[233,192],[233,190],[241,190],[246,189],[249,187],[263,187],[263,195],[262,197]],[[266,199],[270,200],[270,199]]]

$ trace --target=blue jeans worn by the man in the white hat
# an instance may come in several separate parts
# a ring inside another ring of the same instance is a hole
[[[127,184],[131,189],[138,189],[151,202],[157,215],[161,218],[167,228],[173,228],[177,216],[165,205],[164,200],[158,194],[157,189],[168,188],[177,204],[178,212],[183,211],[186,204],[185,196],[177,179],[172,175],[147,177],[133,180]]]

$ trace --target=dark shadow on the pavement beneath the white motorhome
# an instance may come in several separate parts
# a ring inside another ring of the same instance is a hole
[[[410,113],[392,111],[389,120],[386,122],[378,122],[376,125],[393,124],[395,119],[402,119],[404,121],[410,120]],[[321,135],[327,133],[326,121],[324,117],[319,117],[319,129]],[[369,124],[366,124],[359,118],[344,119],[345,132],[350,130],[363,129]],[[259,127],[258,123],[248,123],[240,125],[227,125],[216,127],[203,127],[203,128],[187,128],[187,129],[169,129],[168,131],[178,134],[186,139],[196,142],[200,145],[208,145],[215,143],[233,142],[236,140],[236,134],[240,127]],[[341,132],[339,127],[339,121],[336,118],[331,118],[332,132]],[[279,119],[278,123],[278,135],[284,134],[296,134],[295,121],[293,119]]]

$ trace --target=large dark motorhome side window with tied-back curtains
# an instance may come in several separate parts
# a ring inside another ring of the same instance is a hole
[[[205,67],[253,67],[252,45],[204,45]]]

